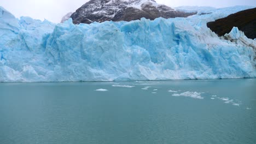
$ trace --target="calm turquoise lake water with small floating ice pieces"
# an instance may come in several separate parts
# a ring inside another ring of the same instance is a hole
[[[256,143],[256,79],[0,83],[0,143]]]

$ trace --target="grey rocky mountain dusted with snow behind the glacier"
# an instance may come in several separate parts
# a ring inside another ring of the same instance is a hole
[[[194,15],[174,10],[154,0],[91,0],[71,15],[73,23],[91,23],[94,21],[132,21],[142,17],[154,20],[157,17],[187,17]]]

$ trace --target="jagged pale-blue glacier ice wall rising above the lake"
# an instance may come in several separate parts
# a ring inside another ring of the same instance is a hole
[[[153,21],[74,25],[17,19],[0,7],[0,82],[237,79],[256,77],[256,40],[206,23],[252,7]]]

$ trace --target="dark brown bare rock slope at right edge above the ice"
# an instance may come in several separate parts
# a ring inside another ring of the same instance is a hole
[[[238,13],[229,15],[223,19],[208,22],[207,27],[219,36],[229,33],[233,27],[238,27],[240,31],[245,33],[246,37],[255,39],[256,8],[239,11]]]

